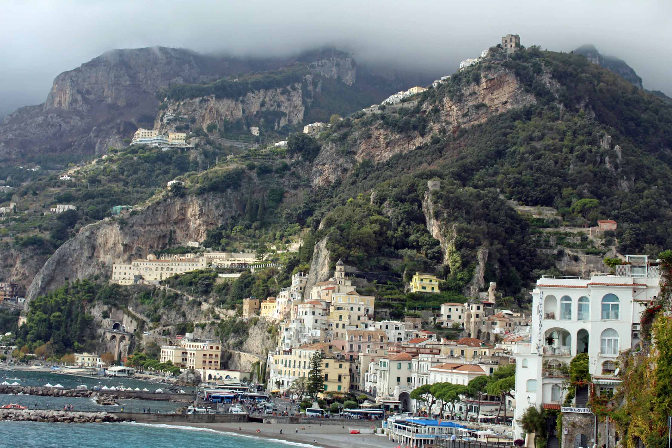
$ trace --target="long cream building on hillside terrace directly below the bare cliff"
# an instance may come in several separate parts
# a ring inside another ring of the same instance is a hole
[[[148,255],[146,260],[133,260],[130,264],[114,263],[112,265],[112,283],[132,285],[140,280],[146,282],[159,281],[175,274],[205,269],[208,264],[206,257],[185,257],[158,260]]]

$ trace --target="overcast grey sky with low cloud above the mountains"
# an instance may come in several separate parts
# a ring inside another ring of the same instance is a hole
[[[333,44],[360,62],[442,75],[508,32],[549,50],[594,44],[628,62],[646,89],[672,96],[669,0],[0,0],[0,8],[0,117],[44,102],[58,73],[113,48],[264,56]]]

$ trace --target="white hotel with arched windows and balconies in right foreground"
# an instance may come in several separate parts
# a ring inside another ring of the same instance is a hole
[[[540,410],[562,406],[562,382],[569,379],[569,361],[577,353],[589,354],[590,374],[600,393],[618,386],[618,355],[639,342],[640,315],[659,294],[660,281],[657,263],[649,263],[645,255],[626,255],[626,262],[630,264],[616,266],[616,273],[537,280],[531,343],[515,347],[517,438],[522,430],[515,421],[526,403]]]

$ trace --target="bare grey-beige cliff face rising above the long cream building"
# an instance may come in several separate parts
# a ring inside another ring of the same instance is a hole
[[[28,288],[28,300],[55,289],[65,279],[109,276],[112,263],[144,258],[174,240],[203,240],[209,228],[241,214],[237,192],[162,200],[124,219],[103,220],[82,228],[48,259]]]

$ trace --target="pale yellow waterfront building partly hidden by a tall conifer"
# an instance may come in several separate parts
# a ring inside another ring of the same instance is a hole
[[[306,344],[289,349],[273,356],[271,377],[268,387],[271,390],[286,390],[298,378],[308,379],[310,357],[316,351],[323,353],[322,373],[325,377],[325,391],[333,394],[345,394],[350,388],[350,363],[345,361],[341,351],[330,343]]]

